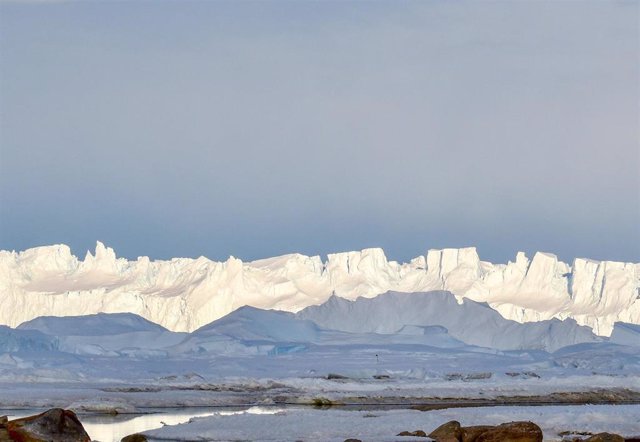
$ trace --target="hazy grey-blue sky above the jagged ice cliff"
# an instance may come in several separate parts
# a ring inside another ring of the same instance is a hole
[[[638,1],[4,1],[0,249],[640,261]]]

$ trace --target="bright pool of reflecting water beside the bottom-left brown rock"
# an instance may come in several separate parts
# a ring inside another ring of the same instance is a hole
[[[215,413],[235,413],[240,409],[225,409],[214,411],[203,408],[180,408],[150,410],[148,414],[119,414],[119,415],[80,415],[80,421],[91,439],[100,442],[120,442],[124,436],[140,433],[163,425],[177,425],[188,422],[192,417],[211,416]],[[8,415],[9,419],[33,416],[42,413],[43,409],[29,410],[0,410],[0,415]]]

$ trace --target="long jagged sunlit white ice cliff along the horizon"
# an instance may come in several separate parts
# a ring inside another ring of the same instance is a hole
[[[576,259],[569,266],[546,253],[491,264],[474,248],[429,250],[399,264],[381,249],[326,262],[292,254],[250,263],[127,261],[102,243],[82,261],[65,245],[0,251],[0,323],[11,326],[43,315],[131,312],[191,331],[244,305],[296,312],[332,293],[355,299],[389,290],[448,290],[518,322],[574,318],[602,335],[616,321],[640,324],[640,264]]]

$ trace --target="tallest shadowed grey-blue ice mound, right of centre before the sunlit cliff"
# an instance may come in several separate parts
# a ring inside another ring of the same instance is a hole
[[[406,326],[440,325],[467,344],[500,350],[555,351],[601,339],[572,319],[520,324],[504,319],[486,304],[469,299],[459,304],[448,292],[389,292],[355,301],[333,296],[297,316],[322,327],[354,333],[397,333]]]

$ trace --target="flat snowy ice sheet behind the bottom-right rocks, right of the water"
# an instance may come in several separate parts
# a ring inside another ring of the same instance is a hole
[[[438,411],[343,411],[272,409],[255,407],[244,412],[215,413],[190,422],[166,426],[146,434],[171,440],[339,441],[348,437],[364,441],[397,441],[402,431],[431,432],[458,420],[462,425],[496,425],[531,420],[543,429],[544,440],[561,440],[561,431],[614,432],[640,435],[640,406],[549,406],[458,408]],[[402,438],[406,441],[424,438]]]

